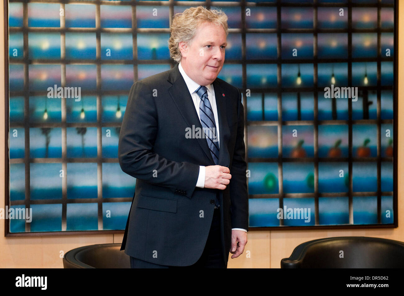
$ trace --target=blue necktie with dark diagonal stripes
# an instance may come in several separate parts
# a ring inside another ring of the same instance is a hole
[[[215,124],[215,116],[213,115],[212,106],[208,99],[208,89],[206,86],[201,85],[196,93],[200,96],[199,103],[199,116],[201,119],[203,130],[205,131],[206,141],[208,142],[210,154],[213,161],[217,165],[219,162],[219,143],[217,142],[217,131]]]

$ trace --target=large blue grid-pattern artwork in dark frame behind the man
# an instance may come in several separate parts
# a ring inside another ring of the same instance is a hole
[[[128,91],[173,67],[173,15],[200,4],[229,17],[219,78],[243,94],[250,229],[397,225],[393,0],[9,0],[6,206],[34,215],[8,235],[124,229]]]

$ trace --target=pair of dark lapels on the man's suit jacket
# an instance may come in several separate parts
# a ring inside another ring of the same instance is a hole
[[[179,112],[185,119],[185,122],[189,127],[192,128],[192,125],[195,128],[199,127],[202,129],[202,125],[200,123],[198,113],[196,112],[194,102],[192,101],[191,94],[189,94],[189,90],[187,88],[187,84],[183,79],[181,73],[178,69],[178,64],[175,65],[173,69],[170,70],[167,79],[173,85],[168,88],[168,93],[176,104]],[[227,125],[227,116],[226,116],[226,101],[223,97],[223,90],[218,83],[217,79],[213,81],[213,88],[215,89],[215,99],[217,106],[217,114],[219,121],[219,137],[220,137],[220,147],[219,147],[219,165],[223,165],[227,167],[230,163],[229,161],[229,152],[227,150],[227,145],[224,144],[225,139],[228,139],[229,135],[229,127]],[[206,138],[197,138],[196,139],[202,150],[204,151],[206,157],[208,157],[210,163],[215,165],[213,161],[212,155],[210,154],[210,150],[208,147],[208,143]]]

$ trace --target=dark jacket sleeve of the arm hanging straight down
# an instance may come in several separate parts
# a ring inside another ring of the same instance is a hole
[[[237,103],[237,136],[234,147],[230,173],[231,228],[242,228],[248,231],[248,190],[247,163],[245,161],[246,147],[244,144],[244,107],[241,102],[241,92],[238,90]]]

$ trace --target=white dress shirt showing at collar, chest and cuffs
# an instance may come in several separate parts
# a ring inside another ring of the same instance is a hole
[[[191,94],[192,97],[192,101],[194,102],[194,106],[196,109],[196,113],[198,113],[198,117],[199,120],[200,115],[199,115],[199,104],[201,101],[201,98],[198,96],[198,94],[195,92],[199,87],[200,84],[196,83],[194,80],[192,80],[191,78],[189,78],[189,76],[185,73],[183,67],[181,66],[181,63],[179,63],[178,65],[178,69],[182,75],[182,77],[185,80],[185,83],[187,84],[189,93]],[[208,89],[208,99],[210,102],[210,106],[212,106],[212,110],[213,110],[213,115],[215,116],[215,124],[216,124],[216,133],[217,133],[217,145],[219,146],[220,149],[220,138],[219,138],[219,117],[217,116],[217,106],[216,106],[216,99],[215,99],[215,90],[213,89],[213,85],[212,83],[205,85],[206,88]],[[201,125],[202,125],[202,121],[201,121]],[[199,166],[199,176],[198,176],[198,181],[196,182],[196,187],[199,188],[204,188],[205,186],[205,167],[203,165]],[[246,231],[246,229],[242,229],[242,228],[232,228],[232,230],[242,230],[242,231]]]

